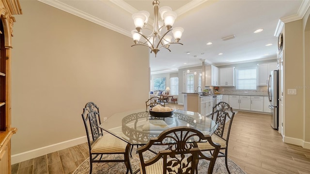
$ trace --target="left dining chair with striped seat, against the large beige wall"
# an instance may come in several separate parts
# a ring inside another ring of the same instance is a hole
[[[86,103],[82,118],[89,146],[90,174],[92,174],[94,162],[124,162],[127,168],[126,174],[128,172],[132,174],[129,161],[130,145],[114,135],[103,134],[103,131],[99,128],[101,119],[98,106],[93,102]],[[112,154],[124,155],[124,159],[105,159],[104,155],[109,156]]]

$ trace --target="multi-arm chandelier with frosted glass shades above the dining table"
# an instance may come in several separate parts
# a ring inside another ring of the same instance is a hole
[[[154,7],[153,29],[146,28],[148,18],[150,16],[149,12],[140,11],[139,13],[135,13],[132,15],[136,29],[131,31],[132,38],[135,43],[134,45],[131,46],[135,45],[147,46],[151,49],[151,53],[152,52],[155,53],[155,57],[157,52],[161,48],[166,48],[171,52],[171,50],[169,49],[170,44],[179,43],[182,33],[184,31],[184,29],[181,27],[176,27],[172,29],[172,25],[177,17],[177,14],[171,11],[171,8],[168,6],[164,6],[158,9],[159,3],[160,2],[158,0],[153,1],[153,7]],[[158,12],[160,13],[162,21],[158,21]],[[161,30],[163,28],[166,28],[165,32],[161,33]],[[152,32],[149,35],[144,35],[142,34],[142,30],[144,32],[144,29]],[[172,31],[173,33],[175,42],[173,41],[171,42],[172,36],[168,35],[170,31]],[[141,36],[145,39],[143,42],[140,42]]]

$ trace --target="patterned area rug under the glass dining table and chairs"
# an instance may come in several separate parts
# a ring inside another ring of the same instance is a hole
[[[150,152],[151,153],[151,152]],[[109,155],[107,159],[123,159],[122,155]],[[134,148],[132,151],[132,158],[130,158],[133,171],[139,169],[139,155]],[[209,161],[200,160],[198,165],[198,174],[206,174],[208,171]],[[228,167],[231,174],[246,174],[237,164],[228,159]],[[89,174],[90,163],[89,159],[83,161],[72,174]],[[109,162],[109,163],[93,163],[92,174],[125,174],[126,166],[123,162]],[[214,166],[213,174],[228,174],[225,166],[225,158],[217,158]]]

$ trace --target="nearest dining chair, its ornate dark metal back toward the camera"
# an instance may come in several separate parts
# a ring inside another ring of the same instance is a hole
[[[220,145],[213,143],[210,135],[203,135],[202,132],[187,126],[167,129],[158,137],[151,138],[146,145],[139,147],[140,173],[194,174],[198,167],[199,156],[202,155],[197,142],[202,141],[208,141],[214,148],[213,154],[205,158],[210,160],[208,174],[212,174]]]

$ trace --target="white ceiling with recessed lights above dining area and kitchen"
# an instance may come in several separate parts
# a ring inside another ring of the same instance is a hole
[[[149,25],[154,18],[153,0],[39,1],[129,37],[135,29],[132,14],[148,11]],[[180,40],[184,45],[172,44],[171,52],[161,49],[156,57],[151,53],[151,72],[173,72],[202,65],[202,61],[218,66],[275,59],[282,22],[301,19],[309,5],[309,0],[161,0],[160,7],[170,6],[178,14],[173,27],[184,28]],[[263,31],[254,33],[256,29]],[[221,39],[231,35],[235,38]]]

